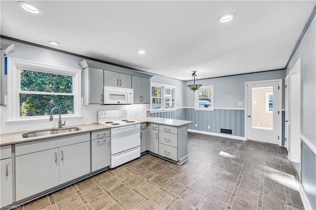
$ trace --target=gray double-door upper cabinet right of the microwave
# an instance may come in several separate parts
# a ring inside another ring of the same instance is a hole
[[[150,103],[150,79],[132,75],[132,88],[134,89],[134,104]]]

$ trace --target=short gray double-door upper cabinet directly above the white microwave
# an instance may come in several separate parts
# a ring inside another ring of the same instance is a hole
[[[104,86],[131,88],[132,75],[104,70]]]

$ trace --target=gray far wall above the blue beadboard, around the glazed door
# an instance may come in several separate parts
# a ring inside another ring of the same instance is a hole
[[[275,70],[210,79],[199,79],[199,82],[202,85],[214,85],[215,108],[238,109],[245,107],[245,82],[283,79],[282,82],[284,84],[284,78],[285,70]],[[190,84],[190,82],[191,81],[186,82],[185,85]],[[186,87],[184,93],[186,95],[185,107],[194,107],[194,92]],[[284,90],[282,91],[282,99],[284,99]],[[238,106],[238,102],[242,102],[242,106]],[[284,108],[284,100],[282,100],[282,108]]]

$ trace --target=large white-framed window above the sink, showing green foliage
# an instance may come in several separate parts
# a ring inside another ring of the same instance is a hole
[[[12,72],[8,75],[9,121],[47,118],[55,106],[64,117],[81,115],[77,91],[81,70],[15,59],[10,59],[8,67]]]

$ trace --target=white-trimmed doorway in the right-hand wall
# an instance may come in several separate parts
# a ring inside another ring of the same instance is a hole
[[[301,161],[301,68],[299,58],[285,78],[285,146],[290,161]]]

